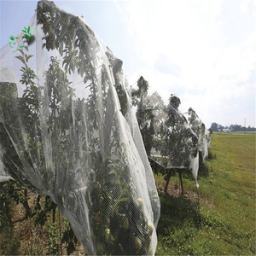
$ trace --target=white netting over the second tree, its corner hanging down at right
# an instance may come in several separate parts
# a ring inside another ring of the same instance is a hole
[[[166,169],[190,169],[198,186],[198,137],[178,110],[180,99],[171,95],[165,106],[154,93],[148,101],[154,114],[154,143],[149,157]]]

